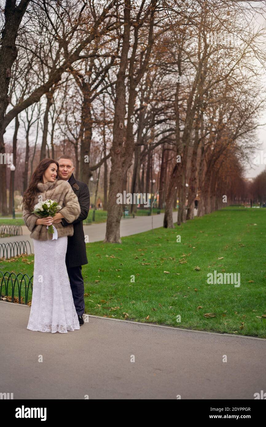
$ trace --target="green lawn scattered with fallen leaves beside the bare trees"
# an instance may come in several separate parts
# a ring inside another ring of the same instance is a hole
[[[122,241],[87,244],[85,313],[266,338],[266,209],[225,208]],[[32,275],[31,260],[0,270]],[[240,287],[208,284],[214,270],[240,273]]]

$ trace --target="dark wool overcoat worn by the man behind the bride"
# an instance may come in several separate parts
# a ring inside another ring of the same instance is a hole
[[[76,181],[73,174],[70,176],[68,182],[78,197],[81,212],[79,217],[75,221],[71,222],[74,227],[74,234],[67,238],[66,257],[70,267],[77,267],[88,264],[82,221],[87,218],[90,210],[90,192],[88,185],[84,182]],[[63,218],[62,224],[63,226],[67,226],[69,222]]]

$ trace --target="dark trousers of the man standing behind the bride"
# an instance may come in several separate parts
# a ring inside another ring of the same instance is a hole
[[[70,267],[67,258],[66,266],[76,312],[78,316],[82,316],[85,310],[82,266]]]

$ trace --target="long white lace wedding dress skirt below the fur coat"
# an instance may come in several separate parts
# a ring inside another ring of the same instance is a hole
[[[65,256],[67,236],[35,240],[32,305],[27,329],[67,333],[80,329]]]

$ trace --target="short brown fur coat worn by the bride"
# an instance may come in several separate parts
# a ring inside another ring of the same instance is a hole
[[[62,207],[59,211],[67,222],[73,222],[79,217],[80,206],[76,194],[73,192],[71,185],[64,180],[58,181],[57,179],[54,182],[46,182],[43,184],[39,182],[37,184],[38,193],[35,195],[34,205],[40,200],[57,200],[58,204]],[[42,196],[42,199],[39,197]],[[34,209],[34,208],[33,208]],[[33,211],[32,209],[32,211]],[[31,231],[30,237],[36,240],[52,240],[53,234],[48,233],[47,225],[36,225],[36,221],[39,216],[35,213],[27,211],[23,206],[22,218]],[[73,236],[73,225],[69,224],[66,227],[63,227],[61,222],[53,224],[57,229],[58,237],[62,236]]]

